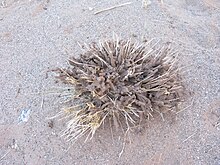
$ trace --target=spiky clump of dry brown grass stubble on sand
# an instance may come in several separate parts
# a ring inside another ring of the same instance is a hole
[[[93,43],[79,58],[69,59],[58,78],[74,88],[63,134],[75,141],[92,138],[105,121],[131,129],[156,113],[176,111],[183,87],[175,52],[154,40],[138,44],[118,38]]]

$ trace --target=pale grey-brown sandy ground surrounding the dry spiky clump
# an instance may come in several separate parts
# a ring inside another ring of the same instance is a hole
[[[220,165],[219,0],[151,0],[146,8],[131,0],[97,15],[127,1],[0,2],[0,164]],[[192,93],[177,116],[156,117],[131,134],[121,158],[120,133],[100,130],[86,144],[65,142],[59,136],[64,123],[46,120],[59,112],[59,98],[37,94],[58,86],[47,71],[78,55],[77,42],[109,38],[113,31],[140,42],[171,41]],[[24,110],[30,118],[19,122]]]

